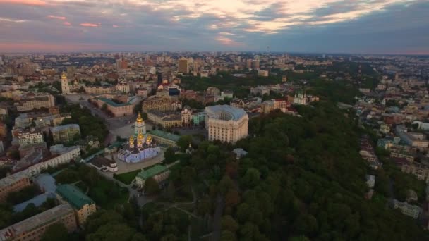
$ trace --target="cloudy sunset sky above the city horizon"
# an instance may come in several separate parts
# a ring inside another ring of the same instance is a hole
[[[429,54],[429,0],[0,0],[0,52]]]

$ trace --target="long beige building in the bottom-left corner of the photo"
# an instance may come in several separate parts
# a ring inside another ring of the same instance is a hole
[[[63,223],[69,233],[76,230],[75,214],[69,204],[60,204],[0,230],[0,240],[38,241],[47,228],[56,223]]]

